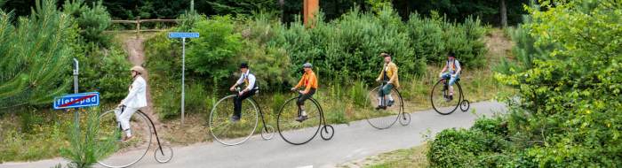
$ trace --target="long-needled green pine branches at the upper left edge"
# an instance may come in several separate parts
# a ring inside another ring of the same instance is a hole
[[[55,3],[44,0],[16,25],[12,12],[0,11],[0,110],[52,103],[71,86],[65,70],[78,29]]]

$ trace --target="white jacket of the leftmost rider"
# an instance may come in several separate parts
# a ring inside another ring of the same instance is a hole
[[[147,106],[147,82],[142,77],[136,78],[130,86],[130,94],[122,102],[130,108],[141,108]]]

